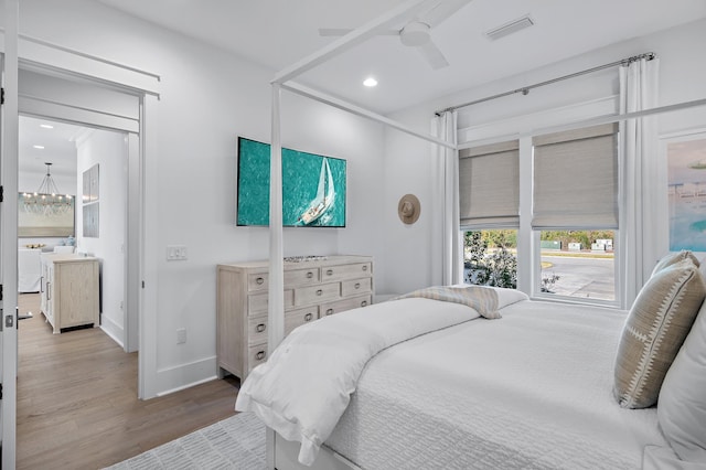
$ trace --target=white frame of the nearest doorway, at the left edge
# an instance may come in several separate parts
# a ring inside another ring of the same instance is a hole
[[[131,149],[139,149],[139,157],[131,160],[137,165],[136,174],[130,172],[128,214],[128,243],[137,241],[128,256],[129,275],[136,275],[127,285],[127,301],[137,306],[136,316],[126,319],[126,329],[139,324],[139,362],[138,362],[138,398],[147,399],[157,396],[157,270],[156,259],[147,254],[157,246],[156,216],[158,214],[156,188],[147,181],[156,181],[157,162],[147,154],[156,154],[156,142],[147,139],[147,130],[154,132],[156,121],[146,119],[148,109],[154,109],[159,100],[161,77],[149,71],[139,70],[126,64],[116,63],[81,51],[47,43],[19,33],[19,0],[4,1],[4,62],[3,87],[6,103],[2,105],[2,142],[0,142],[0,183],[4,186],[6,201],[0,204],[0,259],[2,270],[0,280],[4,286],[3,306],[6,308],[2,322],[11,321],[11,329],[3,331],[0,340],[2,376],[17,377],[17,207],[18,207],[18,140],[19,140],[19,97],[18,75],[21,64],[45,70],[77,82],[108,86],[140,97],[139,139],[131,143]],[[19,44],[22,44],[23,56],[19,57]],[[76,62],[79,56],[81,61]],[[151,114],[150,114],[151,116]],[[149,126],[146,124],[149,122]],[[156,135],[156,133],[152,133]],[[7,178],[8,175],[13,175]],[[131,178],[137,178],[137,181]],[[132,192],[137,189],[137,193]],[[135,197],[130,200],[130,197]],[[132,209],[137,207],[136,211]],[[7,223],[10,221],[10,223]],[[10,320],[8,320],[10,318]],[[7,334],[6,334],[7,332]],[[129,333],[126,335],[130,337]],[[130,344],[133,344],[132,342]],[[4,387],[0,410],[0,449],[2,468],[13,469],[17,459],[17,383],[12,380]]]

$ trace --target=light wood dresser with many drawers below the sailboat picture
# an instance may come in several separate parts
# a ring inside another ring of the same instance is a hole
[[[217,266],[218,376],[245,381],[267,360],[269,261]],[[285,258],[285,334],[324,316],[373,301],[371,256]]]

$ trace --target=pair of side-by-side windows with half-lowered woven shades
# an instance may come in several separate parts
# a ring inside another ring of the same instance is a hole
[[[619,300],[617,125],[464,149],[459,157],[466,282],[516,288],[522,277],[521,288],[536,297]],[[527,201],[521,204],[522,188]]]

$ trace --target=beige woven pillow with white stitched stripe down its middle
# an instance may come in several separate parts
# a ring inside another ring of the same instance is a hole
[[[616,356],[613,392],[620,406],[656,404],[664,376],[704,297],[704,279],[689,258],[657,270],[643,286],[625,320]]]

